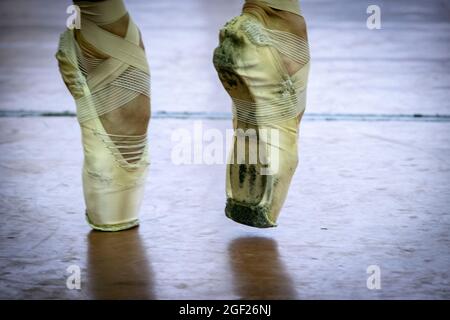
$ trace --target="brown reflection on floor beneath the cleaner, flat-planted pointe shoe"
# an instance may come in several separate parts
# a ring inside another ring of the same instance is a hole
[[[155,299],[149,252],[139,228],[88,235],[87,291],[94,299]]]

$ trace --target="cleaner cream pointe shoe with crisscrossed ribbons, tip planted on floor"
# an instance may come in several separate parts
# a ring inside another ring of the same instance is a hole
[[[129,19],[124,38],[99,25],[124,17],[121,0],[79,3],[81,29],[66,30],[56,58],[77,104],[83,150],[86,218],[92,228],[119,231],[138,225],[148,167],[147,136],[106,132],[100,116],[149,97],[149,67],[140,35]],[[87,54],[83,43],[105,58]]]

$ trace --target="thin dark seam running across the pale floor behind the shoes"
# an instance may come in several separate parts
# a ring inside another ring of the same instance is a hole
[[[71,111],[0,110],[0,118],[76,117]],[[153,119],[230,120],[229,112],[155,111]],[[415,121],[450,122],[450,114],[305,113],[305,121]]]

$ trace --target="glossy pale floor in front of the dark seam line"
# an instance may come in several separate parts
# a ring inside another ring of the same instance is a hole
[[[76,121],[0,119],[0,298],[450,297],[448,124],[305,122],[272,230],[225,217],[224,166],[171,164],[171,128],[192,123],[152,126],[139,229],[98,233],[84,219]],[[403,147],[412,139],[422,149]],[[71,265],[81,290],[66,287]],[[370,265],[382,290],[366,287]]]

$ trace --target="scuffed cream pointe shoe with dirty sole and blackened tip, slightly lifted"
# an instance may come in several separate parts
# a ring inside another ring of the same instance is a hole
[[[233,100],[225,212],[236,222],[265,228],[276,226],[297,167],[309,49],[306,39],[269,28],[263,21],[273,9],[252,2],[221,30],[214,65]],[[257,161],[251,161],[255,153]]]

